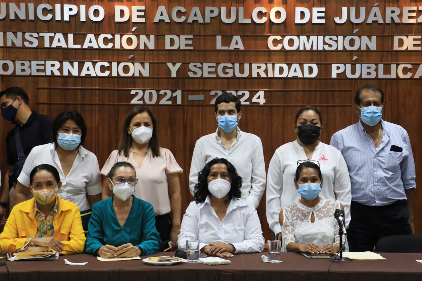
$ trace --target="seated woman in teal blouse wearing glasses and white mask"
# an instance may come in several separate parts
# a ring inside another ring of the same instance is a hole
[[[160,234],[155,228],[154,209],[132,195],[138,182],[133,166],[118,162],[107,176],[113,196],[92,206],[85,251],[103,258],[158,252]]]

